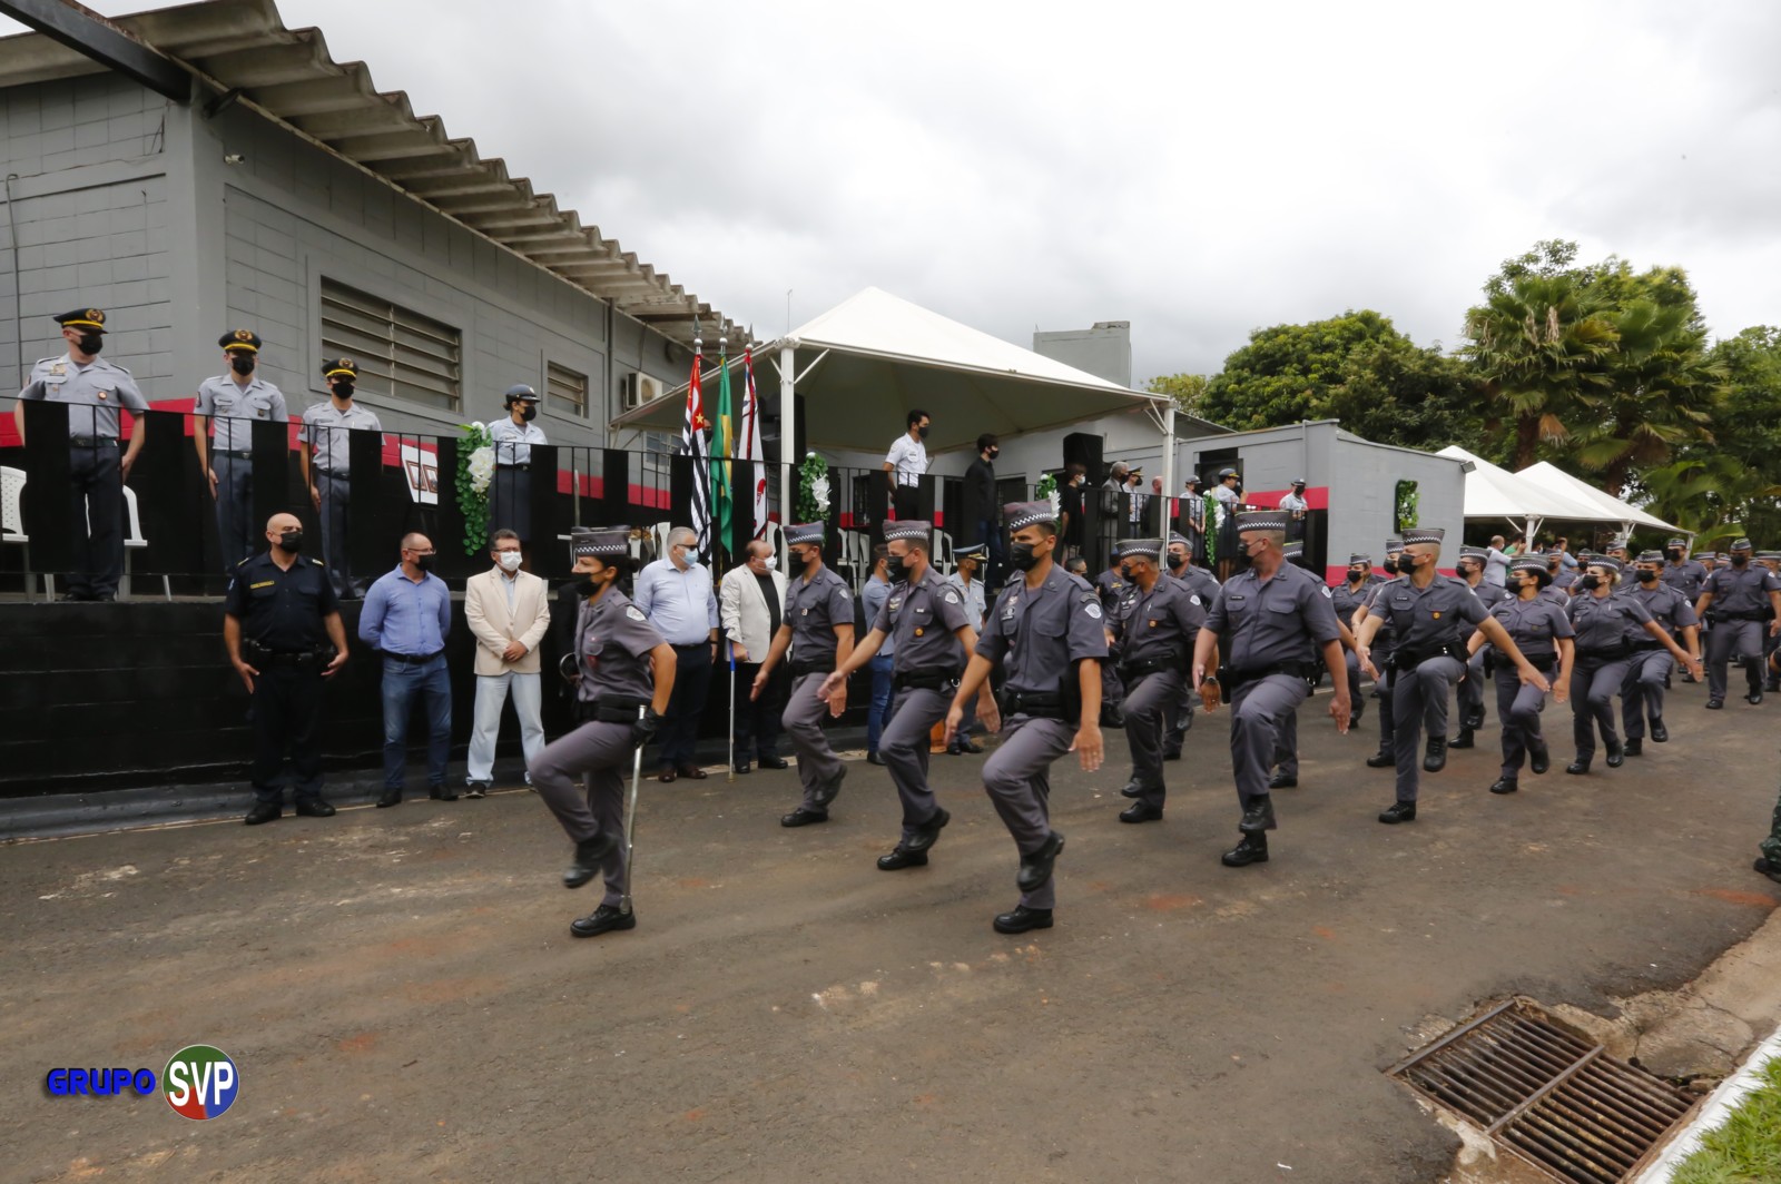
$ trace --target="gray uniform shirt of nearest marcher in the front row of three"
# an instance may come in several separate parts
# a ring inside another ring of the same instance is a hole
[[[1158,580],[1158,589],[1163,584]],[[1053,566],[1038,588],[1017,580],[1003,589],[978,637],[978,653],[1001,662],[1008,691],[1054,694],[1072,662],[1106,657],[1104,623],[1101,596],[1088,580]]]

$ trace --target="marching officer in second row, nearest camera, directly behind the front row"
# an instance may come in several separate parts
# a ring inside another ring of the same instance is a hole
[[[1329,588],[1286,563],[1286,515],[1236,515],[1232,532],[1250,566],[1225,580],[1193,641],[1193,682],[1206,710],[1222,691],[1231,703],[1231,766],[1236,774],[1243,839],[1224,853],[1225,867],[1268,862],[1273,799],[1268,766],[1281,744],[1281,725],[1311,694],[1316,659],[1330,673],[1336,694],[1330,716],[1348,730],[1348,680],[1343,677],[1341,628]],[[1231,662],[1218,668],[1218,637],[1231,637]]]

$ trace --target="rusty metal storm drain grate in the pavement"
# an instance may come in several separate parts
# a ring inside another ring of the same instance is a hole
[[[1387,1070],[1558,1180],[1617,1184],[1694,1099],[1509,1001]]]

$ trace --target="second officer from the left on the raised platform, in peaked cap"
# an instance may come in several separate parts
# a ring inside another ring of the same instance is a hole
[[[217,345],[228,374],[207,377],[198,386],[192,415],[192,447],[198,472],[210,481],[210,500],[217,504],[217,545],[223,570],[253,554],[253,424],[283,424],[290,418],[285,393],[258,376],[260,335],[253,329],[224,333]],[[216,442],[208,436],[208,418],[216,418]],[[205,456],[205,445],[212,445]]]

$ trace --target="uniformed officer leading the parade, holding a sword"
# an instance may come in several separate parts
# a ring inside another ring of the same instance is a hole
[[[663,641],[643,609],[618,589],[630,570],[629,527],[570,532],[575,596],[575,700],[586,723],[545,746],[527,773],[533,789],[575,844],[563,887],[579,888],[606,872],[606,897],[570,922],[575,937],[636,929],[623,908],[630,872],[625,867],[625,774],[641,744],[661,728],[673,694],[673,646]],[[586,794],[575,783],[586,778]]]

